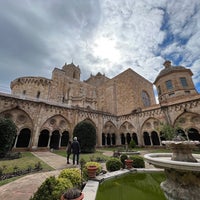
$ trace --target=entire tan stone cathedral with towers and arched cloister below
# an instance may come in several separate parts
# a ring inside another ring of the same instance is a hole
[[[81,81],[80,74],[79,66],[65,64],[54,68],[51,79],[19,77],[11,94],[0,93],[0,117],[17,126],[14,150],[65,148],[82,121],[95,127],[97,147],[131,139],[138,146],[161,146],[161,123],[179,124],[188,140],[200,141],[200,94],[190,69],[165,61],[154,83],[130,68],[111,79],[99,72]]]

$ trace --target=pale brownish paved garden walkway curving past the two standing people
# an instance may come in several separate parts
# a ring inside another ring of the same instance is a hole
[[[54,171],[30,174],[19,178],[11,183],[0,186],[0,200],[29,200],[37,191],[38,187],[50,176],[57,176],[64,168],[74,167],[66,164],[66,158],[51,152],[34,152],[35,156],[54,168]],[[107,156],[112,156],[113,152],[105,152]],[[146,168],[153,168],[146,164]]]

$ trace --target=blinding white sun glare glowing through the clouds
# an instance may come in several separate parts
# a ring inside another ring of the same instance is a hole
[[[116,42],[108,38],[98,38],[95,41],[94,54],[102,59],[108,59],[116,62],[120,59],[119,50],[116,48]]]

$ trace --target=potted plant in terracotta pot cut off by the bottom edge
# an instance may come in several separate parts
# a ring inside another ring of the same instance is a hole
[[[82,200],[84,199],[84,194],[76,188],[68,189],[60,198],[61,200]]]

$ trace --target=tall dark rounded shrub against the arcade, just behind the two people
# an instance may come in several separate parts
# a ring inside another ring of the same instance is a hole
[[[83,121],[78,123],[74,128],[73,136],[78,138],[81,152],[93,153],[95,151],[96,129],[90,122]]]

